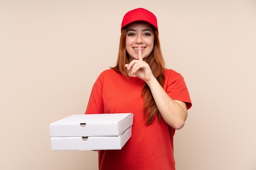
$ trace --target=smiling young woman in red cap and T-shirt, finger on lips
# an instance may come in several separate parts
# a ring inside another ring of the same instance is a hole
[[[117,65],[103,71],[85,114],[133,113],[121,150],[99,150],[99,170],[175,170],[173,135],[192,106],[181,74],[164,68],[157,18],[138,8],[124,15]]]

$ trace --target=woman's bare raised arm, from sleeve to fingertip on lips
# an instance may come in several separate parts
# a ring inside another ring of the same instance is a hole
[[[164,121],[174,129],[181,129],[187,118],[186,103],[179,100],[173,100],[164,91],[163,87],[154,77],[148,63],[143,61],[140,45],[138,55],[138,60],[134,59],[129,64],[125,65],[127,70],[130,71],[130,74],[136,74],[147,83],[155,100],[157,109]]]

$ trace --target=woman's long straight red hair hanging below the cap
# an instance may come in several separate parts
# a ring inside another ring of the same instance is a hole
[[[129,79],[127,69],[124,66],[126,63],[129,63],[128,62],[129,54],[126,52],[126,31],[127,31],[127,26],[123,28],[121,32],[117,65],[115,67],[112,67],[112,69],[115,70],[116,72],[121,72],[121,74],[123,74],[124,76],[126,76],[126,78]],[[147,59],[147,63],[151,68],[153,75],[155,76],[159,84],[163,87],[165,62],[161,52],[158,32],[154,27],[153,27],[153,32],[155,35],[154,48]],[[155,116],[157,116],[158,121],[160,121],[161,115],[159,113],[159,110],[157,109],[157,106],[151,94],[150,88],[146,83],[142,87],[141,96],[144,97],[144,116],[145,118],[146,117],[148,118],[148,120],[146,121],[146,125],[151,124]]]

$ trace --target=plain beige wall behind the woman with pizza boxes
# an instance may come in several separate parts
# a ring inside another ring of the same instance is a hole
[[[0,0],[0,170],[97,169],[96,152],[51,151],[49,124],[85,112],[137,7],[193,102],[177,170],[256,170],[255,0]]]

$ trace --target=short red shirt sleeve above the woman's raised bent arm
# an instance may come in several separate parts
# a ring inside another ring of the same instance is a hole
[[[184,78],[180,73],[175,72],[174,70],[168,70],[165,74],[165,90],[166,93],[173,100],[180,100],[186,103],[187,109],[192,107],[192,102],[189,96],[189,91],[186,87]]]

